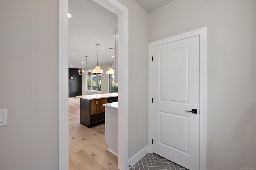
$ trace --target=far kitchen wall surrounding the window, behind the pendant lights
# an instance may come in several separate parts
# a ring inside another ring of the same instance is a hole
[[[110,67],[110,64],[100,64],[100,68],[104,71],[101,74],[101,93],[108,93],[108,74],[106,74],[106,71],[108,71],[108,67]],[[94,67],[87,68],[87,70],[93,70]],[[86,70],[86,68],[83,68],[83,70]],[[86,76],[82,76],[82,95],[89,95],[89,94],[99,94],[98,92],[88,92],[86,91]]]

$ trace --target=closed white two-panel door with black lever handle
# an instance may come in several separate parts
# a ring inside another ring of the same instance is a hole
[[[153,56],[153,152],[199,170],[199,36],[153,47]]]

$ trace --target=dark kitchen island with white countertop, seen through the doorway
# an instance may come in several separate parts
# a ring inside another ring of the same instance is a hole
[[[92,94],[76,97],[80,98],[80,123],[86,127],[104,123],[105,107],[103,104],[118,101],[118,93]]]

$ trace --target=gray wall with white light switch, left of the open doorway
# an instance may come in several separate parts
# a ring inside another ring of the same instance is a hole
[[[58,1],[1,0],[0,23],[0,169],[57,170]]]

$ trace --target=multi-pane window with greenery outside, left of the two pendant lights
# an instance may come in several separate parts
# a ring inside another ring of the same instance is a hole
[[[86,90],[101,92],[101,74],[88,72],[86,76]]]

